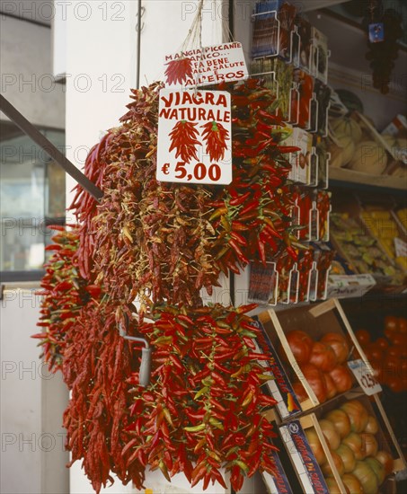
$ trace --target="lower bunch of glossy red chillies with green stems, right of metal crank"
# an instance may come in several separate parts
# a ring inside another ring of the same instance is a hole
[[[129,468],[148,465],[168,481],[184,472],[204,490],[210,481],[226,488],[220,469],[231,472],[234,490],[258,470],[274,473],[274,433],[262,411],[276,401],[261,392],[270,375],[259,363],[270,356],[255,352],[259,331],[245,315],[251,309],[152,308],[155,324],[140,329],[155,345],[152,382],[141,388],[137,374],[130,379],[134,402],[123,450]]]

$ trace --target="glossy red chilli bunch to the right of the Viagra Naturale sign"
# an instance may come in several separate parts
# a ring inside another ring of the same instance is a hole
[[[214,252],[222,271],[238,272],[252,260],[276,259],[295,238],[287,186],[290,164],[281,146],[289,132],[273,114],[275,96],[258,80],[230,84],[234,181],[212,203]],[[288,233],[288,235],[287,235]],[[291,249],[289,250],[291,252]],[[294,255],[294,253],[293,253]]]

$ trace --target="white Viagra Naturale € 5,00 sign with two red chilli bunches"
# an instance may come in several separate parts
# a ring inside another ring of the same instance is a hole
[[[162,89],[158,107],[158,181],[232,181],[230,93]]]

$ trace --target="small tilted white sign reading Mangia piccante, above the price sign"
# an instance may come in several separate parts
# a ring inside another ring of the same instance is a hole
[[[165,55],[165,84],[194,87],[196,85],[231,83],[248,77],[242,43],[188,49]]]

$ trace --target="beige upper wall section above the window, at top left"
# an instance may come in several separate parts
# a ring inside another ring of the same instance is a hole
[[[52,75],[50,29],[1,14],[0,28],[1,93],[32,124],[64,128],[65,87]]]

